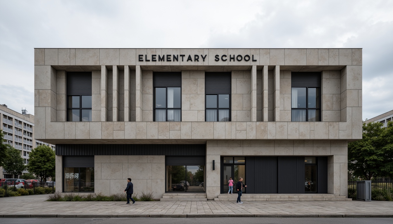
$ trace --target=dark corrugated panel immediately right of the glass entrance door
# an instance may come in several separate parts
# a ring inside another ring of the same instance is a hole
[[[247,193],[277,193],[277,157],[246,157]]]

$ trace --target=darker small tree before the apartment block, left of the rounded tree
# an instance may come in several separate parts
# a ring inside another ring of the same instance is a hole
[[[22,174],[22,172],[26,169],[26,166],[20,153],[21,151],[8,144],[6,146],[9,156],[8,160],[4,163],[4,169],[15,177],[16,175]]]

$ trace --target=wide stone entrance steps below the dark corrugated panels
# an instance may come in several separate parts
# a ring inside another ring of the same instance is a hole
[[[237,193],[220,194],[215,201],[236,201]],[[242,201],[351,201],[338,194],[242,194]]]

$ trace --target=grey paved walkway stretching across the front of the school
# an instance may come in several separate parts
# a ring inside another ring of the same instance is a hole
[[[0,198],[0,217],[393,217],[385,201],[47,202],[47,195]]]

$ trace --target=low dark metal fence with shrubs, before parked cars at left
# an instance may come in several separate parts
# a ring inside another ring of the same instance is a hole
[[[32,191],[32,193],[35,195],[35,194],[55,193],[55,185],[56,185],[55,182],[42,182],[42,183],[1,182],[0,189],[4,189],[6,191],[5,197],[9,196],[10,191],[17,192],[19,189]]]

